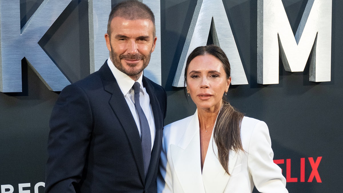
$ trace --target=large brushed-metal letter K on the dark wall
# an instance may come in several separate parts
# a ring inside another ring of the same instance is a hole
[[[60,91],[70,84],[54,62],[38,45],[38,41],[67,7],[71,0],[44,0],[20,29],[20,2],[0,1],[0,92],[21,92],[21,60],[28,64],[45,85]]]

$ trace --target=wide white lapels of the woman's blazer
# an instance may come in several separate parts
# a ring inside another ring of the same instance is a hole
[[[225,173],[217,156],[217,146],[211,136],[201,173],[200,128],[198,111],[194,113],[177,145],[170,146],[171,160],[178,180],[185,192],[224,192],[230,176]],[[237,154],[229,153],[229,172],[236,163]]]

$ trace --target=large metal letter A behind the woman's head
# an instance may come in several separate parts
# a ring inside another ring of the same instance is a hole
[[[210,29],[212,21],[213,29]],[[206,45],[210,30],[214,43],[224,50],[230,61],[231,84],[248,84],[222,0],[198,0],[177,67],[174,87],[184,87],[186,59],[194,48]]]

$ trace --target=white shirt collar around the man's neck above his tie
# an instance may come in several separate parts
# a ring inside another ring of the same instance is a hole
[[[107,65],[110,68],[111,72],[113,73],[114,78],[116,78],[121,92],[123,93],[123,95],[126,95],[131,90],[135,81],[132,80],[125,73],[118,70],[118,68],[114,66],[110,58],[107,59]],[[141,76],[138,78],[136,82],[139,82],[139,84],[141,85],[140,90],[141,92],[143,92],[143,94],[145,94],[144,90],[142,89],[143,88],[142,78],[143,78],[143,73],[141,74]]]

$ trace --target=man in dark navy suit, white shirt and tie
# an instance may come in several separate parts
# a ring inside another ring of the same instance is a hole
[[[46,192],[156,192],[166,93],[142,74],[157,39],[153,13],[119,3],[105,39],[109,59],[52,110]]]

